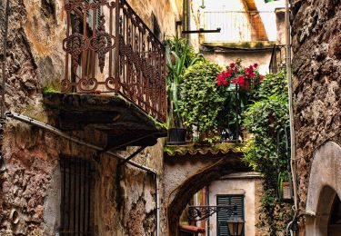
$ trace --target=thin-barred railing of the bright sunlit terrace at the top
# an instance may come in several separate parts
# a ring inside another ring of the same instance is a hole
[[[271,41],[265,22],[276,22],[274,12],[205,12],[206,29],[221,28],[220,34],[206,34],[206,43]],[[276,25],[273,25],[276,28]],[[276,32],[273,32],[276,37]]]

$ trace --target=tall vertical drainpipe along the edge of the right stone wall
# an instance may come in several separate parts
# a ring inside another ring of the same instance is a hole
[[[286,74],[288,82],[288,96],[289,96],[289,116],[290,116],[290,148],[291,148],[291,174],[293,177],[294,189],[294,217],[286,226],[286,234],[293,235],[291,227],[296,221],[297,215],[297,176],[296,176],[296,150],[295,150],[295,129],[294,129],[294,109],[293,109],[293,81],[292,81],[292,68],[291,68],[291,37],[290,37],[290,11],[289,0],[286,0]]]

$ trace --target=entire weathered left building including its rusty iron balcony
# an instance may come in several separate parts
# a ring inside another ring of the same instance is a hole
[[[165,79],[158,40],[182,1],[10,0],[4,55],[5,2],[0,235],[165,235],[165,88],[151,77]]]

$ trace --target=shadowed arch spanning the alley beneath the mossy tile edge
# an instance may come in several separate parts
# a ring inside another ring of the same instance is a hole
[[[249,171],[240,157],[241,153],[229,153],[220,159],[206,155],[196,159],[183,156],[165,160],[165,202],[169,236],[178,235],[179,217],[196,192],[232,172]]]

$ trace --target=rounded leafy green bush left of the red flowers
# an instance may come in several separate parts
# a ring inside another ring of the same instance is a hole
[[[181,115],[186,117],[186,125],[197,125],[198,133],[217,127],[217,115],[226,100],[226,92],[216,86],[216,74],[221,70],[219,65],[203,61],[190,66],[183,76]]]

